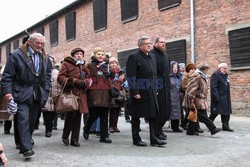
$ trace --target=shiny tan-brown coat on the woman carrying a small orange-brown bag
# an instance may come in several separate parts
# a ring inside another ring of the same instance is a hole
[[[194,99],[194,104],[197,109],[207,110],[207,95],[207,79],[203,74],[195,71],[189,78],[184,96],[183,107],[192,109],[191,100]]]

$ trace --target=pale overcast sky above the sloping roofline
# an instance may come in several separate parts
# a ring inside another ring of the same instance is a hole
[[[22,32],[75,0],[0,0],[0,42]]]

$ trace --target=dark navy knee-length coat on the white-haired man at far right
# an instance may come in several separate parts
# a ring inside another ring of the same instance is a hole
[[[211,113],[229,115],[232,113],[230,83],[227,75],[215,71],[210,80]]]

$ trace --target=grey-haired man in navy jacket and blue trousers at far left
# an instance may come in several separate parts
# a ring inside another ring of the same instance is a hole
[[[30,35],[28,41],[7,59],[2,77],[2,92],[7,101],[17,103],[20,153],[24,158],[34,154],[32,133],[36,116],[48,99],[51,87],[51,62],[44,50],[45,37]]]

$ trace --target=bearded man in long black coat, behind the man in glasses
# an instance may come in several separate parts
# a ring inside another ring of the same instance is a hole
[[[163,86],[158,90],[158,104],[159,104],[159,118],[157,125],[157,136],[161,140],[166,140],[167,135],[162,128],[166,121],[169,120],[171,113],[171,96],[170,96],[170,60],[166,53],[165,39],[156,37],[154,41],[154,48],[150,51],[155,55],[157,78],[163,81]]]

